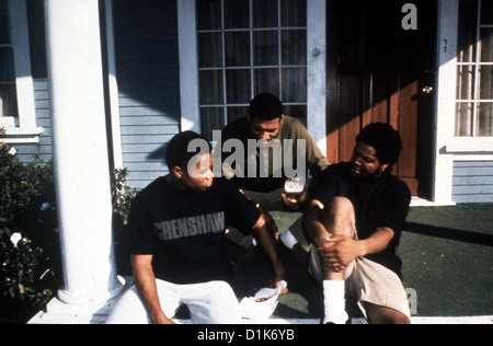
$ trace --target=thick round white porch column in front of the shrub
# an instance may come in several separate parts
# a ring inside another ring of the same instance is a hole
[[[106,301],[116,277],[98,0],[45,0],[64,303]]]

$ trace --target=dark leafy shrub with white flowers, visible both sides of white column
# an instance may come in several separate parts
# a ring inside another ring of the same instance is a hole
[[[62,284],[54,165],[38,157],[23,163],[2,135],[0,128],[0,296],[43,308]],[[111,175],[117,240],[135,195],[127,174]]]

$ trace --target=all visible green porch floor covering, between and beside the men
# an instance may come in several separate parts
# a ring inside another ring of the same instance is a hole
[[[283,232],[299,214],[272,212]],[[412,208],[398,251],[404,286],[415,292],[415,316],[493,314],[493,205]],[[319,319],[322,291],[303,265],[283,250],[290,292],[274,316]],[[261,254],[236,263],[233,288],[241,299],[272,277]],[[353,307],[354,309],[354,307]]]

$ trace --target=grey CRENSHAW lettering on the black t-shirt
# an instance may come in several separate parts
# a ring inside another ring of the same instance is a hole
[[[225,231],[225,212],[206,214],[176,220],[153,223],[158,239],[170,241],[187,237]]]

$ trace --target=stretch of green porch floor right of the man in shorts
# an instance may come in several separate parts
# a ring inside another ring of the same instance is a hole
[[[493,314],[493,205],[413,208],[399,255],[422,316]]]

